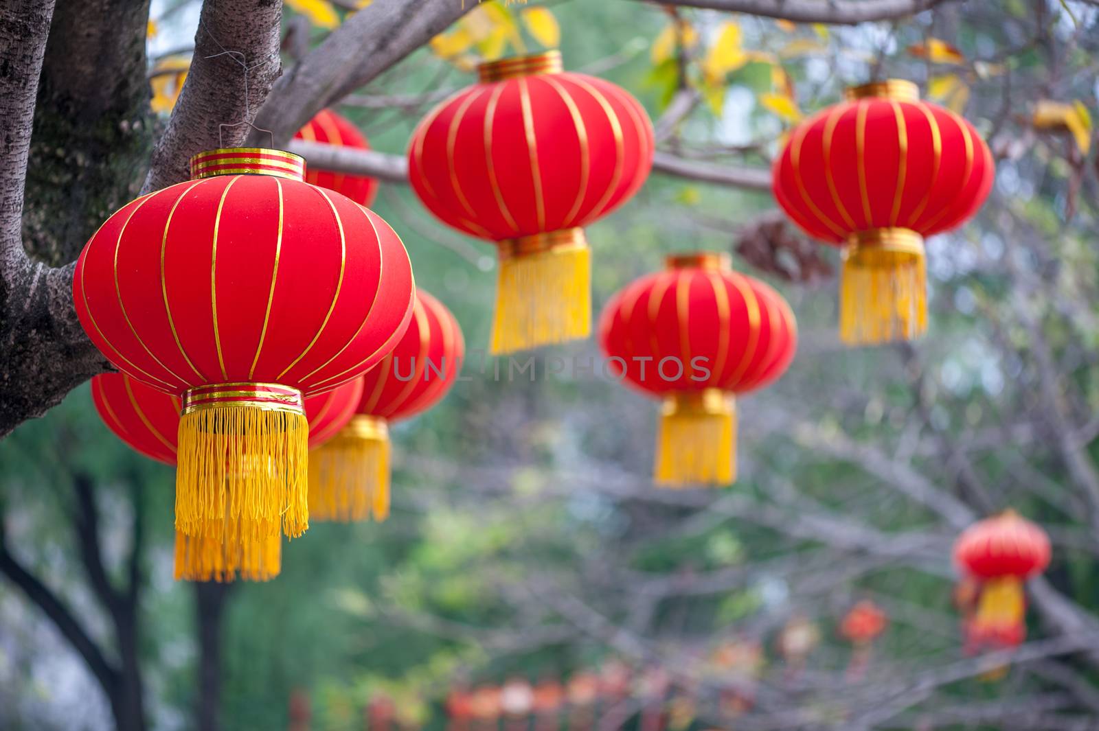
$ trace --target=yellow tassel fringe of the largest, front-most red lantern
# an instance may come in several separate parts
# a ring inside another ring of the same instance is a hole
[[[179,420],[176,530],[226,542],[309,527],[303,414],[213,406]]]

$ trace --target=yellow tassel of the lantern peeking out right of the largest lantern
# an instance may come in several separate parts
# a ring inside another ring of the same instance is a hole
[[[389,429],[358,415],[309,458],[309,515],[358,522],[389,517]]]

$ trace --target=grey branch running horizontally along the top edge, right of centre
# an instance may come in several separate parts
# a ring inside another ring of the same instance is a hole
[[[704,8],[777,18],[795,23],[854,25],[895,20],[930,10],[944,0],[659,0],[665,5]]]

